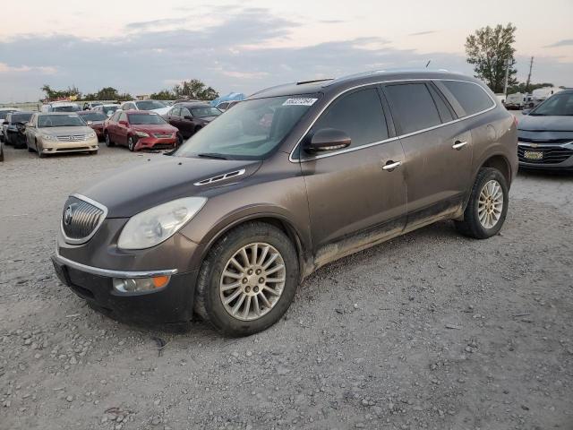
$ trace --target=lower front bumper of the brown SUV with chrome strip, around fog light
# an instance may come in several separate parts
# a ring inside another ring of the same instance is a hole
[[[110,271],[73,262],[60,254],[52,256],[57,277],[99,312],[117,320],[138,323],[184,323],[191,321],[198,271]],[[142,278],[168,274],[167,285],[157,290],[121,293],[114,278]]]

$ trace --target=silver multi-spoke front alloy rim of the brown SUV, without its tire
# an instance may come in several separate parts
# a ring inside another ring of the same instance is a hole
[[[277,248],[261,242],[244,245],[225,265],[219,296],[228,314],[253,321],[277,305],[285,280],[285,262]]]

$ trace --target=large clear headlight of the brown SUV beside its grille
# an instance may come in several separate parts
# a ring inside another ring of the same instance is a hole
[[[204,197],[185,197],[142,211],[127,221],[117,246],[122,249],[145,249],[173,236],[175,232],[201,211]]]

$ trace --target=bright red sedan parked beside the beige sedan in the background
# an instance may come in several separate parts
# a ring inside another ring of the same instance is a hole
[[[125,145],[129,150],[175,148],[177,129],[155,112],[120,110],[104,123],[107,146]]]

